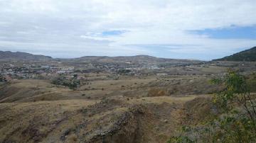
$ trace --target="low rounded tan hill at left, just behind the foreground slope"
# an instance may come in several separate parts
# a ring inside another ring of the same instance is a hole
[[[18,80],[0,87],[0,103],[58,101],[86,98],[80,91],[57,87],[50,81]]]

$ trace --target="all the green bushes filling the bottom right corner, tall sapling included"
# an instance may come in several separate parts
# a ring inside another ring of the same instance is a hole
[[[256,78],[255,78],[256,79]],[[213,103],[221,109],[221,115],[196,127],[186,127],[169,142],[256,142],[256,101],[250,82],[235,71],[229,71],[214,84],[225,86],[215,94]]]

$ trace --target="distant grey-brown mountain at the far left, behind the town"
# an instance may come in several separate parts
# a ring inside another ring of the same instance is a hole
[[[16,61],[37,61],[44,62],[52,60],[52,57],[43,55],[33,55],[26,52],[10,52],[0,51],[1,62],[16,62]]]

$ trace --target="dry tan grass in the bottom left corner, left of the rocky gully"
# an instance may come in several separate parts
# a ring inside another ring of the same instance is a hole
[[[0,104],[0,142],[4,139],[34,142],[48,135],[60,122],[95,101],[38,101]],[[61,129],[60,129],[61,130]]]

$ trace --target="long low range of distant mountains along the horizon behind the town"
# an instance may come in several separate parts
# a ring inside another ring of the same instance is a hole
[[[32,55],[26,52],[3,52],[0,51],[0,62],[17,62],[17,61],[36,61],[36,62],[127,62],[136,64],[149,64],[149,63],[160,63],[160,62],[171,62],[173,64],[192,64],[199,63],[199,60],[190,59],[166,59],[159,57],[152,57],[149,55],[137,55],[137,56],[119,56],[119,57],[108,57],[108,56],[85,56],[73,59],[53,59],[52,57],[43,55]]]

